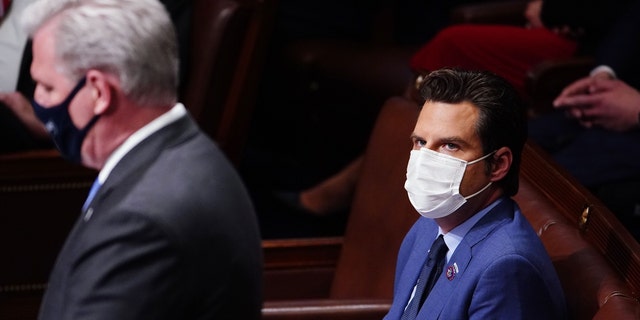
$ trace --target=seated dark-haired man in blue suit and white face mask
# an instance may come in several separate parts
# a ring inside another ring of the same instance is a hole
[[[518,94],[451,69],[430,73],[421,94],[405,188],[422,217],[400,247],[385,319],[566,318],[551,259],[510,198],[527,138]]]

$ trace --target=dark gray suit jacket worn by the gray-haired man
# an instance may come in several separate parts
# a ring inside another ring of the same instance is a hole
[[[40,319],[259,319],[261,252],[240,178],[185,117],[113,169],[58,256]]]

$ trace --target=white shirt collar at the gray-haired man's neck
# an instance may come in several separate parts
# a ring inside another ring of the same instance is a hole
[[[104,184],[111,174],[111,170],[122,160],[122,158],[137,146],[142,140],[146,139],[154,132],[166,127],[167,125],[177,121],[187,114],[187,109],[182,103],[177,103],[171,110],[167,111],[163,115],[157,117],[153,121],[147,123],[144,127],[134,132],[127,140],[125,140],[115,151],[111,153],[104,166],[98,174],[98,181],[100,184]]]

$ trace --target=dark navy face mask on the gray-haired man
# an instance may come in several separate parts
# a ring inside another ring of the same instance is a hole
[[[75,163],[81,162],[81,149],[84,137],[99,118],[99,115],[93,116],[89,123],[82,129],[76,128],[73,121],[71,121],[69,104],[71,104],[71,101],[73,101],[78,91],[84,87],[86,81],[87,79],[85,77],[80,79],[64,101],[57,106],[47,108],[35,100],[31,100],[31,105],[36,116],[44,123],[53,142],[56,144],[58,150],[60,150],[60,153],[62,153],[62,156]]]

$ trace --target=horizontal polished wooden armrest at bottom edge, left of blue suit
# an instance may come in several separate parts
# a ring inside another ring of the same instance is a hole
[[[391,308],[390,300],[302,300],[271,301],[262,308],[264,320],[331,319],[331,320],[379,320]]]

